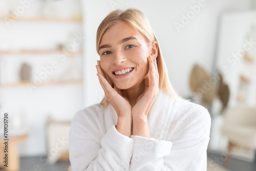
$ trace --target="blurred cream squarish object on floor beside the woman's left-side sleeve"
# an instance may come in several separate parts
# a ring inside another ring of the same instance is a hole
[[[69,161],[69,131],[71,121],[56,121],[48,117],[46,125],[46,146],[49,164]]]

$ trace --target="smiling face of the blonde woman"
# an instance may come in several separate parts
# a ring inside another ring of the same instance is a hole
[[[99,45],[100,66],[119,89],[129,89],[148,73],[150,47],[139,32],[120,22],[103,34]]]

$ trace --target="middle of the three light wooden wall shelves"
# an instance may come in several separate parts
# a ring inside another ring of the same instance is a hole
[[[8,50],[8,51],[0,51],[0,55],[25,55],[25,54],[56,54],[61,52],[61,50]],[[71,55],[82,55],[83,51],[78,50],[74,52],[62,51],[65,54],[71,53]]]

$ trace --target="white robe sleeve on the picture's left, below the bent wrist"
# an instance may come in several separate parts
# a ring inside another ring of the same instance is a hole
[[[101,136],[97,119],[84,116],[76,114],[71,123],[72,170],[130,170],[134,140],[120,134],[114,124]]]

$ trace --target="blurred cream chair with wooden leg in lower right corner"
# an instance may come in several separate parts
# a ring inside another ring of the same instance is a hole
[[[234,106],[224,110],[222,134],[228,138],[227,159],[223,166],[228,167],[234,148],[240,145],[256,148],[256,108]]]

